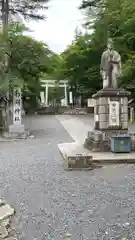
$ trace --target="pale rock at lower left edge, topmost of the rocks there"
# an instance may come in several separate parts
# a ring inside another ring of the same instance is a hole
[[[11,208],[8,204],[5,204],[0,207],[0,221],[12,216],[14,214],[14,209]]]

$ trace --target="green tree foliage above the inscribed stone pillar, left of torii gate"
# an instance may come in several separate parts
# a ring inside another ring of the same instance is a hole
[[[21,85],[28,94],[39,95],[40,78],[45,73],[51,74],[50,50],[45,43],[25,36],[22,25],[13,25],[8,36],[0,35],[0,89],[7,91]],[[8,56],[4,61],[4,56]]]

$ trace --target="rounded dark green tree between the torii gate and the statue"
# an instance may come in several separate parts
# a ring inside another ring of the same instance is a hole
[[[97,48],[92,48],[91,36],[77,37],[62,54],[61,73],[67,78],[76,95],[91,96],[101,84],[99,75],[99,55]]]

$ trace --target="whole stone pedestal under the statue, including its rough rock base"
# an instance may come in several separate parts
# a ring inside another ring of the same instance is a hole
[[[128,134],[128,96],[124,89],[105,88],[93,95],[94,129],[88,132],[84,146],[92,151],[110,151],[112,135]]]

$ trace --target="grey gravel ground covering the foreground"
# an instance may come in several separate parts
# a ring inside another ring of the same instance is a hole
[[[0,195],[15,207],[20,240],[135,240],[135,166],[64,171],[55,116],[28,118],[35,139],[0,145]]]

